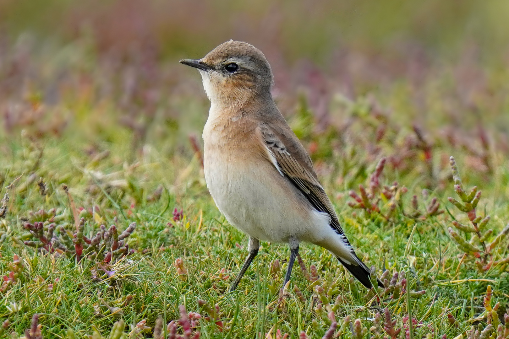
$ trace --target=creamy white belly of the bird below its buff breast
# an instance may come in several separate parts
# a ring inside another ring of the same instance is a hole
[[[230,224],[273,242],[287,242],[292,236],[317,242],[333,233],[328,214],[303,203],[300,192],[272,164],[254,159],[251,164],[236,165],[240,160],[217,153],[204,155],[207,187]]]

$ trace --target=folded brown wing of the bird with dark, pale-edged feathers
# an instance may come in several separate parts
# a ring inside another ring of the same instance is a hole
[[[259,125],[258,130],[265,142],[268,158],[279,173],[287,177],[317,210],[329,214],[330,226],[343,234],[329,197],[315,173],[313,162],[290,127],[286,123],[271,127]]]

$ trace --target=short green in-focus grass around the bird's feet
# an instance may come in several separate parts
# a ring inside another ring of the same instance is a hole
[[[294,269],[291,287],[297,286],[302,291],[302,300],[290,291],[284,305],[277,306],[278,289],[289,255],[286,246],[278,244],[264,243],[238,290],[225,292],[246,255],[246,237],[228,225],[214,207],[197,159],[189,159],[190,164],[181,169],[190,174],[179,194],[164,189],[160,197],[149,201],[151,189],[156,190],[159,183],[165,182],[164,178],[177,176],[164,166],[162,157],[153,155],[154,159],[149,162],[140,159],[135,169],[129,166],[122,169],[121,164],[112,163],[114,156],[101,160],[94,167],[95,171],[116,173],[120,170],[116,180],[129,182],[125,188],[111,188],[107,182],[94,179],[83,170],[89,159],[73,152],[71,140],[72,137],[45,140],[45,154],[51,156],[43,156],[36,170],[37,176],[48,178],[49,192],[45,200],[39,193],[37,180],[20,191],[30,178],[25,174],[15,184],[17,189],[10,192],[9,211],[2,221],[0,263],[3,272],[9,271],[8,263],[17,254],[22,258],[23,271],[2,295],[0,312],[2,318],[9,320],[9,331],[22,333],[36,313],[43,324],[44,337],[65,336],[68,329],[78,337],[85,336],[91,333],[92,325],[106,333],[119,319],[127,324],[147,319],[147,325],[153,326],[158,315],[166,322],[178,318],[180,304],[188,311],[202,312],[198,300],[205,300],[211,305],[218,304],[225,328],[221,333],[214,322],[201,320],[199,330],[205,338],[252,337],[272,327],[294,336],[306,331],[310,337],[321,337],[328,323],[315,311],[318,295],[314,293],[314,286],[330,286],[331,282],[337,287],[326,298],[332,298],[333,303],[337,295],[342,296],[336,311],[338,319],[350,316],[370,326],[366,319],[374,318],[384,306],[400,317],[407,313],[404,296],[387,299],[383,304],[369,302],[367,290],[353,282],[329,253],[310,245],[302,246],[302,259],[307,266],[316,265],[319,280],[311,283],[298,268]],[[26,152],[31,144],[12,145],[12,156],[3,158],[3,166],[9,168],[4,182],[12,181],[18,172],[26,173],[33,167],[31,153]],[[122,143],[109,146],[110,154],[117,157],[122,154],[122,148],[128,151]],[[23,153],[27,159],[23,158]],[[15,169],[16,175],[13,175]],[[54,171],[51,177],[50,170]],[[89,237],[101,223],[115,223],[121,230],[131,222],[137,223],[138,227],[129,238],[130,248],[135,249],[135,253],[110,265],[108,270],[115,272],[112,276],[97,273],[101,270],[94,260],[83,258],[78,262],[75,258],[48,255],[20,242],[31,238],[23,230],[21,220],[37,218],[31,217],[31,211],[43,206],[60,209],[64,216],[60,224],[72,229],[72,213],[65,192],[60,188],[64,181],[61,175],[68,182],[77,206],[86,210],[94,208],[94,217],[89,212],[82,214],[87,220],[85,234]],[[98,183],[103,190],[91,189]],[[144,193],[137,196],[136,192]],[[345,200],[335,200],[336,206],[345,206]],[[184,211],[183,218],[178,221],[173,220],[175,206]],[[423,323],[415,328],[416,337],[430,333],[428,325],[448,336],[469,329],[471,320],[483,311],[482,296],[487,285],[493,287],[494,299],[502,303],[502,308],[507,306],[504,292],[509,288],[507,273],[493,270],[479,274],[473,266],[460,264],[457,255],[461,252],[445,231],[450,217],[414,220],[397,215],[398,222],[385,223],[362,213],[352,218],[353,210],[348,207],[338,212],[353,245],[366,262],[377,266],[379,274],[384,265],[391,275],[393,271],[404,270],[410,290],[426,291],[422,297],[410,299],[413,317]],[[178,258],[183,259],[184,275],[177,274],[174,266]],[[271,273],[269,267],[275,260],[279,260],[281,266]],[[224,274],[221,274],[222,269]],[[14,303],[18,305],[17,312],[9,311],[8,307],[12,309]],[[120,310],[112,314],[111,307]],[[455,315],[459,327],[448,323],[448,313]],[[345,331],[349,333],[348,328]]]

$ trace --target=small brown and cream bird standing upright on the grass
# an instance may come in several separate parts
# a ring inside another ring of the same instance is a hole
[[[260,240],[290,246],[283,287],[305,241],[330,251],[372,288],[370,269],[355,254],[313,162],[272,99],[265,55],[230,40],[202,59],[180,63],[200,71],[211,102],[203,130],[207,187],[228,222],[249,236],[249,255],[230,291],[258,254]],[[383,287],[380,280],[378,285]]]

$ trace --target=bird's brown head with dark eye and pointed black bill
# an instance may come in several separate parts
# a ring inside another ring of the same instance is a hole
[[[212,103],[240,103],[269,94],[273,77],[265,55],[241,41],[227,41],[197,60],[180,63],[198,69]]]

